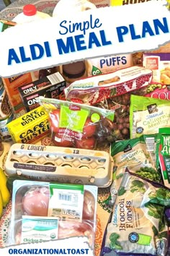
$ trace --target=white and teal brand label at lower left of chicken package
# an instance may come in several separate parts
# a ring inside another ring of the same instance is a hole
[[[38,243],[58,239],[58,218],[22,216],[21,243]]]

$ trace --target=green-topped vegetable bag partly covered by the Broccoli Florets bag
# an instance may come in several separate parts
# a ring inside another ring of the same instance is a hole
[[[120,140],[112,142],[111,156],[113,158],[113,183],[111,190],[115,189],[117,195],[125,168],[130,168],[130,172],[150,179],[154,182],[161,182],[161,174],[156,171],[156,143],[159,136],[142,135],[130,140]],[[114,198],[112,198],[114,201]]]

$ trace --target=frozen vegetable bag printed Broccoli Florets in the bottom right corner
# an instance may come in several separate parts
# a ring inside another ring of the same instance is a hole
[[[101,256],[166,255],[169,232],[164,210],[168,205],[169,189],[126,171],[104,234]]]

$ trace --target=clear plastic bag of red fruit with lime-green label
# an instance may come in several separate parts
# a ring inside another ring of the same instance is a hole
[[[115,111],[43,97],[39,101],[49,114],[53,145],[94,150],[109,144]]]

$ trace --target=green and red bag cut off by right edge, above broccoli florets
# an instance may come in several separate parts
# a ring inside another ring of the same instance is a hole
[[[170,127],[160,128],[158,133],[157,166],[161,167],[165,186],[170,188]]]

